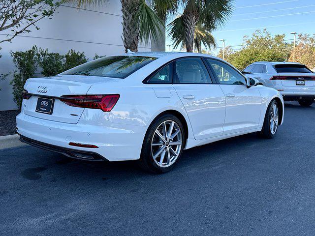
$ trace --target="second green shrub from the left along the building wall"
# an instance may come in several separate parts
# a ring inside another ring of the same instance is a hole
[[[48,53],[48,49],[39,49],[39,66],[44,76],[54,76],[63,72],[64,56],[59,53]]]

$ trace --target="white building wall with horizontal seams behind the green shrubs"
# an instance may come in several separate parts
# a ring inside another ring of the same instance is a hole
[[[33,45],[60,54],[74,49],[85,52],[88,59],[93,59],[95,53],[108,56],[125,52],[120,0],[111,0],[89,10],[77,9],[72,4],[62,5],[52,19],[42,19],[38,23],[39,30],[32,29],[30,33],[15,37],[11,43],[0,44],[0,74],[12,73],[16,69],[10,51],[26,51]],[[3,34],[2,31],[0,39],[5,37]],[[139,45],[138,50],[151,51],[151,45]],[[0,81],[0,111],[17,109],[9,85],[11,75]]]

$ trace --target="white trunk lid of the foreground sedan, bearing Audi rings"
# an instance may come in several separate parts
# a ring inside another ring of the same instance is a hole
[[[110,84],[117,81],[121,79],[79,75],[32,78],[27,80],[24,86],[32,96],[27,100],[23,99],[22,108],[24,114],[32,117],[75,124],[85,108],[69,106],[59,98],[64,95],[85,95],[95,83]],[[50,104],[51,102],[53,104]],[[52,105],[52,114],[36,111],[40,103]]]

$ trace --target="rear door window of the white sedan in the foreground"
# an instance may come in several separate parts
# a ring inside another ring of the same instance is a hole
[[[176,60],[175,83],[211,84],[208,71],[200,58]]]

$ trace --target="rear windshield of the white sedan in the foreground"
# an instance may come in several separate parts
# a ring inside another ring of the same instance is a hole
[[[124,79],[156,58],[114,56],[96,59],[63,72],[63,75],[91,75]]]

